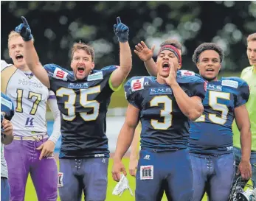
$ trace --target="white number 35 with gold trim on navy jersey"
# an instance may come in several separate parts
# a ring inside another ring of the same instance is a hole
[[[84,121],[94,121],[97,119],[97,116],[99,115],[100,110],[100,102],[97,102],[96,100],[88,100],[89,94],[97,94],[100,93],[100,85],[93,87],[93,88],[86,88],[86,89],[80,89],[80,105],[83,107],[92,107],[93,113],[80,113],[80,116]],[[66,121],[72,121],[75,119],[75,99],[77,94],[75,94],[75,91],[71,88],[60,88],[58,91],[56,91],[56,96],[68,96],[68,100],[64,103],[64,107],[68,110],[68,115],[64,115],[63,119]]]

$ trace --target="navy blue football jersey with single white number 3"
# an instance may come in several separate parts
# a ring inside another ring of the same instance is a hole
[[[177,82],[188,96],[204,99],[205,81],[192,71],[178,71]],[[156,77],[132,77],[125,84],[128,102],[139,108],[141,147],[167,151],[187,148],[190,120],[179,109],[169,85]]]

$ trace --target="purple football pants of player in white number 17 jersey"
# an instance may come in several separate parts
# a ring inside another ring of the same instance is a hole
[[[41,150],[36,150],[46,140],[47,138],[41,141],[13,140],[11,144],[4,146],[10,183],[10,200],[24,200],[29,173],[38,201],[57,200],[58,168],[55,158],[43,158],[39,161]]]

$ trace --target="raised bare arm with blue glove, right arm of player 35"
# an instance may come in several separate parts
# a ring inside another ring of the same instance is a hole
[[[119,88],[122,82],[131,71],[131,48],[128,43],[129,28],[122,24],[120,17],[117,17],[117,24],[114,24],[114,33],[120,43],[120,68],[111,74],[111,85]]]

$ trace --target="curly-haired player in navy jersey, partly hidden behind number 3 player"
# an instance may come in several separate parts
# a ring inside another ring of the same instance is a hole
[[[195,50],[193,61],[207,84],[204,113],[190,124],[190,158],[193,167],[194,201],[200,201],[206,191],[209,200],[228,200],[235,176],[232,122],[241,130],[243,159],[242,177],[252,175],[249,163],[251,133],[245,103],[249,87],[238,77],[217,79],[224,59],[215,43],[203,43]]]

